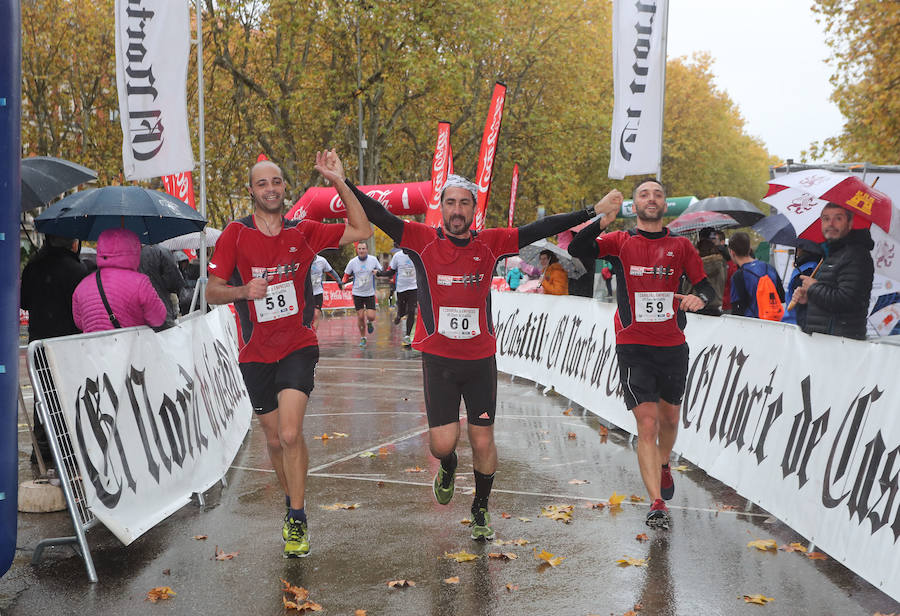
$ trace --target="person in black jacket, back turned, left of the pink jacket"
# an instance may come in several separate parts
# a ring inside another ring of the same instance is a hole
[[[78,240],[55,235],[44,237],[44,245],[22,270],[20,300],[28,311],[28,341],[79,334],[72,318],[72,294],[87,267],[78,259]],[[41,456],[52,465],[47,431],[34,414],[34,437]],[[31,454],[32,461],[35,455]]]

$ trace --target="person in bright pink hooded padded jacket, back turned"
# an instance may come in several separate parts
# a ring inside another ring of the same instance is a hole
[[[166,320],[166,307],[150,279],[138,273],[141,242],[127,229],[107,229],[97,240],[97,272],[89,274],[72,296],[72,316],[83,332],[99,332],[116,327],[149,325],[159,327]],[[97,277],[113,319],[103,299]]]

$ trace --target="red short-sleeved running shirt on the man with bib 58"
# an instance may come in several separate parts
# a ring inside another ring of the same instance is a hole
[[[229,223],[209,263],[209,273],[232,286],[261,277],[270,286],[287,281],[294,285],[298,310],[282,318],[259,322],[253,301],[234,302],[241,324],[241,363],[274,363],[318,344],[310,327],[314,305],[309,266],[320,250],[339,247],[344,225],[286,219],[282,224],[281,233],[271,237],[256,228],[253,216]]]

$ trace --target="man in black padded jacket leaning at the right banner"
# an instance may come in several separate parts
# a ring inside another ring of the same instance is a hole
[[[853,229],[853,213],[834,203],[822,210],[825,260],[816,277],[801,276],[794,292],[806,304],[806,333],[819,332],[865,340],[866,315],[872,294],[872,248],[868,229]]]

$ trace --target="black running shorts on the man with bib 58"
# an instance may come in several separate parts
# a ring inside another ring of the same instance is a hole
[[[277,409],[278,393],[282,389],[296,389],[308,397],[313,390],[318,361],[319,347],[314,345],[297,349],[275,363],[240,364],[253,411],[265,415]]]

